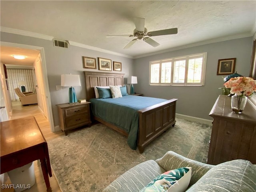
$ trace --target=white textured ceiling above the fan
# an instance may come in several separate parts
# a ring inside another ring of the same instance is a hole
[[[60,40],[139,57],[198,42],[252,36],[256,1],[0,1],[0,24]],[[152,37],[154,48],[134,37],[134,17],[146,19],[148,31],[178,28],[178,34]]]

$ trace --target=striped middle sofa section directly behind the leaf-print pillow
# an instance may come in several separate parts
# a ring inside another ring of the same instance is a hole
[[[173,151],[167,152],[162,158],[156,160],[156,162],[166,171],[180,167],[192,167],[192,176],[189,186],[195,184],[208,170],[214,167],[214,165],[191,160]]]

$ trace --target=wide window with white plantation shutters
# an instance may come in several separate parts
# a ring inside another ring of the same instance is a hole
[[[150,62],[150,85],[203,86],[207,53]]]

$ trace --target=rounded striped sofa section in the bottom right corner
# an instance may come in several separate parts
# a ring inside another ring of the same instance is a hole
[[[256,169],[250,161],[232,160],[216,165],[187,192],[256,192]]]

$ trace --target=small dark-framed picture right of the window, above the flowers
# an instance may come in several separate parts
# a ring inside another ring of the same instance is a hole
[[[236,58],[219,59],[217,75],[229,75],[235,72]]]

